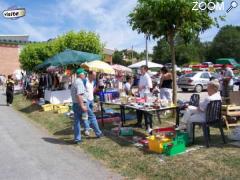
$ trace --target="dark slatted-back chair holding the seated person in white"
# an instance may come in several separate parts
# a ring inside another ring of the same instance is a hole
[[[203,135],[205,139],[205,144],[207,147],[209,147],[209,141],[210,141],[210,126],[217,125],[217,127],[220,130],[222,140],[224,143],[226,143],[224,132],[223,132],[223,119],[221,115],[221,108],[222,108],[222,102],[220,100],[218,101],[210,101],[210,103],[207,106],[206,110],[206,121],[205,122],[193,122],[193,144],[194,144],[194,136],[195,136],[195,126],[201,125],[203,129]],[[214,126],[216,127],[216,126]]]

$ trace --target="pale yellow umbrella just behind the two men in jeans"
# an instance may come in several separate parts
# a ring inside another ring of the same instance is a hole
[[[81,65],[82,68],[88,71],[101,72],[106,74],[115,74],[114,69],[103,61],[92,61]]]

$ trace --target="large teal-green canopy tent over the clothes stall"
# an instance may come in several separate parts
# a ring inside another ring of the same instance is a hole
[[[94,60],[101,60],[98,54],[92,54],[82,51],[66,49],[55,56],[48,58],[45,62],[35,67],[35,69],[44,69],[48,66],[65,66],[70,64],[81,64]]]

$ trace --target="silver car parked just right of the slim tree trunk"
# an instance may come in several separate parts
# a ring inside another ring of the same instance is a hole
[[[210,78],[218,79],[218,77],[219,75],[216,73],[206,71],[193,72],[180,77],[177,81],[177,85],[182,91],[188,91],[191,89],[199,93],[207,89],[207,84],[210,81]]]

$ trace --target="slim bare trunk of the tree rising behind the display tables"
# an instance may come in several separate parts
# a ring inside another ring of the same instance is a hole
[[[169,37],[169,45],[171,50],[171,56],[172,56],[172,75],[173,75],[173,103],[177,104],[177,82],[176,82],[176,59],[175,59],[175,45],[174,45],[174,34],[170,33]]]

